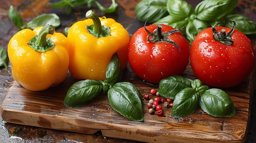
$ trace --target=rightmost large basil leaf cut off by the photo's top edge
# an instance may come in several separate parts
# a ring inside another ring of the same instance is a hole
[[[232,11],[235,4],[237,0],[203,0],[197,4],[195,14],[197,19],[210,22]]]

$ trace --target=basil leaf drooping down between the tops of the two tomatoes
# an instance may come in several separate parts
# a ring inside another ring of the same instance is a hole
[[[191,20],[188,22],[186,27],[186,36],[187,39],[193,42],[194,38],[201,32],[203,29],[210,27],[210,24],[201,20]]]

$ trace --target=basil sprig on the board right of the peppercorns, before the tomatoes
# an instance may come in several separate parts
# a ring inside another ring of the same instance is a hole
[[[159,83],[159,94],[174,99],[171,116],[179,118],[194,113],[200,105],[204,112],[215,117],[235,115],[235,106],[226,92],[208,89],[199,79],[170,76]]]

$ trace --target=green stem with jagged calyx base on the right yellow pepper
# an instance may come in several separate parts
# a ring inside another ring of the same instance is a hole
[[[107,37],[110,35],[110,27],[102,26],[101,20],[98,18],[96,13],[92,10],[87,11],[86,18],[93,20],[94,24],[86,26],[88,32],[97,38]]]

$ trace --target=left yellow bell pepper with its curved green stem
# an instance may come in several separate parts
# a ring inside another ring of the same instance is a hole
[[[18,31],[7,50],[14,80],[32,91],[58,85],[68,73],[69,46],[52,25]]]

